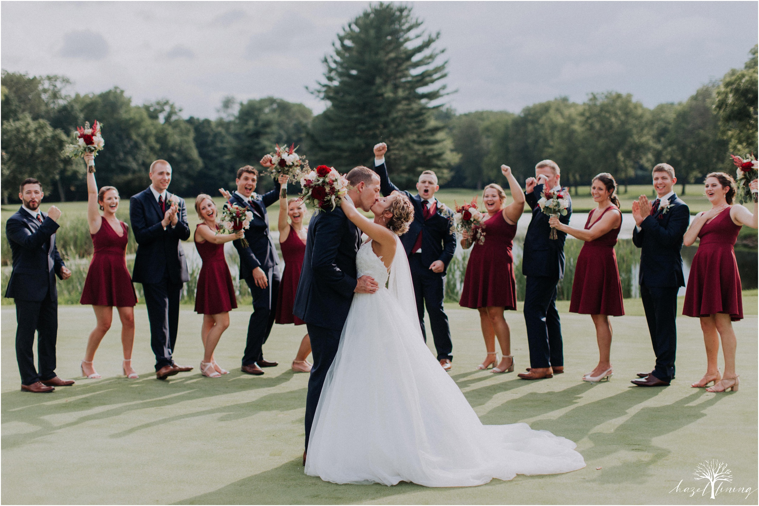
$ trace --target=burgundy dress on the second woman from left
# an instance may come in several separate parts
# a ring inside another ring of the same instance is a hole
[[[200,225],[198,225],[200,226]],[[213,242],[197,242],[195,228],[195,248],[203,267],[197,276],[195,292],[195,312],[200,314],[219,314],[237,308],[235,285],[224,258],[224,245]]]

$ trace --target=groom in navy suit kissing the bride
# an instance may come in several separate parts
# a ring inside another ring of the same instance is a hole
[[[348,183],[351,189],[347,198],[357,208],[369,211],[379,199],[379,177],[367,167],[355,167],[348,173]],[[324,378],[335,360],[353,294],[373,293],[378,288],[371,276],[356,279],[359,246],[361,230],[345,217],[340,205],[332,211],[319,211],[311,218],[292,311],[306,322],[313,354],[306,397],[306,451]],[[303,464],[306,465],[305,451]]]

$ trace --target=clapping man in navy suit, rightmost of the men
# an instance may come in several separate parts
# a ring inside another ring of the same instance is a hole
[[[657,198],[653,205],[645,195],[632,203],[635,230],[632,242],[641,248],[641,299],[646,311],[656,366],[650,373],[638,373],[633,384],[668,386],[675,379],[677,348],[677,292],[685,286],[682,275],[682,236],[688,230],[691,212],[675,195],[675,169],[669,164],[653,167],[653,189]]]

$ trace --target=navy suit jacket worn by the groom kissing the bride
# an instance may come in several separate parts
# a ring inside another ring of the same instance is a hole
[[[306,253],[293,314],[311,325],[341,330],[356,289],[361,230],[341,208],[320,211],[308,224]]]

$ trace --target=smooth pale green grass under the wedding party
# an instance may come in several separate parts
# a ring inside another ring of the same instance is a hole
[[[95,323],[92,310],[68,306],[58,312],[57,372],[77,383],[32,395],[18,391],[15,315],[13,308],[2,309],[4,504],[706,504],[709,495],[701,492],[689,497],[670,491],[679,483],[681,489],[703,488],[693,472],[707,458],[728,464],[729,486],[756,486],[755,316],[733,324],[740,391],[713,394],[689,386],[706,367],[695,318],[678,318],[672,386],[641,389],[628,381],[653,367],[644,317],[613,319],[615,374],[591,385],[581,382],[597,361],[591,319],[562,314],[566,373],[528,382],[516,377],[529,365],[521,311],[506,313],[516,372],[496,375],[475,369],[485,358],[477,311],[449,307],[451,375],[483,423],[526,422],[565,436],[577,442],[587,467],[475,488],[427,489],[410,483],[338,486],[304,475],[308,376],[288,367],[303,326],[276,325],[264,351],[281,365],[247,376],[238,367],[250,306],[232,311],[216,353],[231,374],[209,379],[197,370],[201,318],[184,307],[175,358],[196,369],[159,382],[151,374],[146,312],[138,306],[134,366],[140,379],[120,376],[116,318],[95,359],[103,379],[88,380],[79,377],[79,361]],[[718,498],[744,501],[745,495],[727,492]]]

